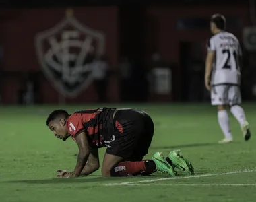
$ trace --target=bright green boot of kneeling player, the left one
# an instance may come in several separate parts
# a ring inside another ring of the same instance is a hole
[[[177,172],[173,170],[172,166],[166,161],[161,152],[156,152],[152,156],[152,160],[154,160],[156,164],[156,170],[159,172],[168,173],[171,176],[176,176]]]

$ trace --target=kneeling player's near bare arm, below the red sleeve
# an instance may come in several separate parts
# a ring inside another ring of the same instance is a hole
[[[75,170],[73,171],[73,176],[79,176],[84,169],[84,166],[86,166],[86,162],[90,156],[90,145],[84,131],[75,135],[75,141],[78,145],[79,152],[77,155],[77,164],[75,166]]]

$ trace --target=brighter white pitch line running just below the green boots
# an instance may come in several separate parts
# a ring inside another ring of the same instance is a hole
[[[180,180],[180,179],[187,179],[187,178],[203,178],[207,176],[220,176],[220,175],[227,175],[227,174],[241,174],[247,172],[255,172],[255,170],[241,170],[241,171],[233,171],[233,172],[223,172],[223,173],[214,173],[214,174],[200,174],[200,175],[190,175],[190,176],[178,176],[178,177],[170,177],[170,178],[158,178],[154,180],[141,180],[141,181],[134,181],[134,182],[121,182],[121,183],[108,183],[104,184],[104,186],[126,186],[131,184],[141,184],[141,183],[150,183],[150,182],[161,182],[166,180]]]

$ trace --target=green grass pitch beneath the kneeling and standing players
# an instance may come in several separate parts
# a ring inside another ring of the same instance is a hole
[[[110,105],[106,105],[110,106]],[[73,170],[77,146],[53,137],[45,125],[54,106],[0,107],[0,201],[254,201],[256,138],[245,143],[230,116],[234,143],[218,145],[222,133],[209,104],[123,105],[152,116],[155,135],[150,158],[181,149],[193,162],[195,176],[154,174],[147,177],[102,178],[100,170],[84,178],[56,178],[57,169]],[[67,106],[69,112],[100,106]],[[60,106],[58,107],[60,108]],[[256,131],[256,105],[245,104],[251,131]],[[102,158],[104,149],[100,149]]]

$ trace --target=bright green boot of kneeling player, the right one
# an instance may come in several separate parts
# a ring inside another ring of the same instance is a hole
[[[195,173],[191,162],[189,162],[189,160],[183,158],[180,150],[170,151],[170,153],[168,154],[168,158],[171,160],[172,166],[174,168],[183,170],[183,171],[187,172],[187,174]]]

